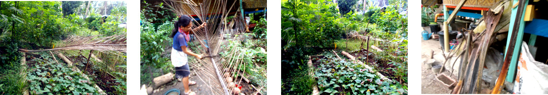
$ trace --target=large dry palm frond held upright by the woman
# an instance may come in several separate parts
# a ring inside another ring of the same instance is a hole
[[[232,8],[235,7],[236,1],[230,2],[227,0],[204,0],[200,3],[192,0],[183,1],[171,1],[164,0],[169,10],[174,11],[177,15],[196,15],[202,22],[207,22],[207,26],[202,29],[193,31],[198,39],[199,45],[203,48],[198,50],[200,54],[204,55],[204,58],[197,64],[197,73],[199,78],[211,88],[213,94],[230,94],[233,90],[235,79],[237,74],[241,71],[238,67],[243,61],[238,59],[239,57],[224,57],[220,58],[220,51],[229,52],[229,56],[243,56],[242,52],[237,49],[223,50],[221,49],[222,35],[225,31],[229,33],[242,33],[245,30],[245,23],[242,19],[242,15],[236,12],[234,18],[230,24],[227,22],[227,17]],[[230,6],[230,7],[228,7]],[[237,10],[243,11],[243,10]],[[197,28],[201,23],[194,21],[193,28]],[[234,30],[231,30],[235,27]],[[220,61],[222,60],[222,61]],[[218,63],[218,62],[222,63]],[[242,65],[245,66],[245,65]],[[233,79],[234,78],[234,79]],[[241,79],[239,79],[241,80]],[[227,85],[230,84],[230,85]],[[238,83],[236,83],[238,84]],[[221,91],[222,90],[222,91]]]

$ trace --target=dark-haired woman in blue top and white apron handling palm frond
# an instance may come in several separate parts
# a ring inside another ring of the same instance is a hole
[[[185,94],[196,94],[190,91],[189,85],[196,85],[195,81],[189,81],[189,64],[187,55],[195,56],[198,59],[202,58],[202,55],[194,54],[192,51],[187,49],[187,43],[190,40],[189,34],[192,34],[193,31],[203,28],[206,26],[206,23],[202,23],[199,27],[192,29],[192,18],[186,15],[179,17],[178,21],[175,21],[175,28],[172,31],[170,37],[173,38],[173,49],[171,60],[172,64],[175,67],[176,78],[182,81],[182,84],[185,87]]]

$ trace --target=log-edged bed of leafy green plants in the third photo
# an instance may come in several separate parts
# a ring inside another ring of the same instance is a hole
[[[320,94],[403,94],[403,88],[384,81],[362,64],[341,61],[334,55],[311,56]]]

